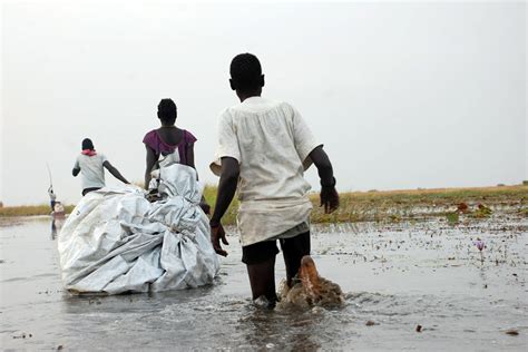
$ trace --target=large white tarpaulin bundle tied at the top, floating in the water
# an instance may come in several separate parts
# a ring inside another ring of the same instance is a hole
[[[162,201],[126,186],[91,192],[58,237],[62,281],[71,292],[147,292],[212,284],[218,258],[199,207],[203,188],[184,165],[160,169]]]

